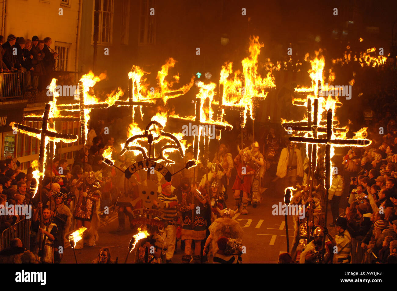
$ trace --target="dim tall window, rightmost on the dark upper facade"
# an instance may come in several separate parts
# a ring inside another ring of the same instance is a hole
[[[154,6],[155,0],[141,0],[138,40],[141,45],[156,43],[156,17],[150,15],[150,8],[154,8]]]

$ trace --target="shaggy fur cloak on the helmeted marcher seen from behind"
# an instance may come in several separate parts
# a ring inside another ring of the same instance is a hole
[[[210,227],[208,227],[212,235],[212,252],[216,254],[219,251],[218,239],[227,237],[231,239],[243,238],[244,231],[241,229],[238,221],[229,218],[217,218]]]

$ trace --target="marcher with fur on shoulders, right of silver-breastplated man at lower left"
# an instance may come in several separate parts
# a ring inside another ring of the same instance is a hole
[[[68,233],[69,228],[72,224],[71,218],[72,214],[70,212],[69,207],[67,207],[63,201],[64,201],[64,195],[62,193],[56,193],[54,195],[54,201],[55,201],[55,208],[54,208],[54,215],[52,217],[52,222],[54,222],[57,227],[58,227],[58,239],[55,242],[55,248],[59,249],[59,247],[62,247],[62,249],[65,249],[65,239],[66,239],[66,233]],[[62,260],[63,252],[55,252],[55,263],[60,263]]]

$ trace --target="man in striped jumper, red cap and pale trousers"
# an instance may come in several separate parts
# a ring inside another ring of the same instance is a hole
[[[164,231],[166,233],[166,241],[165,244],[167,247],[166,251],[166,262],[172,263],[173,253],[175,251],[175,235],[176,235],[176,227],[173,224],[174,221],[177,220],[178,212],[178,199],[176,195],[171,193],[171,183],[167,182],[161,185],[162,193],[157,196],[160,203],[158,204],[159,208],[165,213],[163,218]]]

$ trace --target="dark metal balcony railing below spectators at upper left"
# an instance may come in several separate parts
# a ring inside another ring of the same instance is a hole
[[[22,97],[25,93],[25,80],[21,72],[0,73],[0,100]]]

